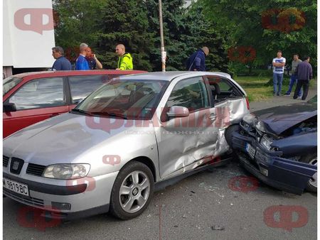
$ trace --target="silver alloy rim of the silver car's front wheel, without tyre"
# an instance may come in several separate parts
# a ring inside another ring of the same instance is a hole
[[[128,213],[139,211],[149,198],[150,181],[146,173],[134,171],[124,178],[119,189],[119,203]]]

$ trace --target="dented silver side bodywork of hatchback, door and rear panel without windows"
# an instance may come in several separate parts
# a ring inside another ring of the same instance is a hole
[[[171,82],[153,120],[159,126],[154,129],[158,143],[160,176],[164,180],[198,168],[228,152],[230,148],[225,141],[224,131],[228,126],[238,124],[248,112],[243,96],[221,99],[218,102],[209,99],[208,107],[192,111],[189,116],[161,120],[162,110],[170,101],[171,93],[182,81],[185,78],[177,77]],[[204,79],[199,81],[206,83]]]

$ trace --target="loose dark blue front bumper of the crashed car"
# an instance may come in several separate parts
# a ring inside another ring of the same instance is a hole
[[[249,146],[249,147],[248,147]],[[279,190],[301,195],[316,173],[316,165],[281,158],[282,152],[267,151],[256,138],[233,133],[233,149],[252,175]]]

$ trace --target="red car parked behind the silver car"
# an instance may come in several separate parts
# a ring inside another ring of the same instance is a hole
[[[73,109],[112,77],[132,70],[26,72],[3,82],[4,138],[38,121]]]

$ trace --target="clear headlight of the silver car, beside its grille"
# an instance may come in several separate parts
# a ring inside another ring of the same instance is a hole
[[[84,178],[90,170],[90,164],[54,164],[49,165],[43,173],[45,178],[75,179]]]

